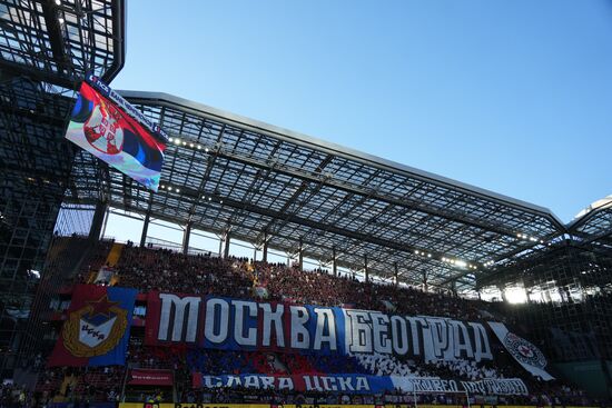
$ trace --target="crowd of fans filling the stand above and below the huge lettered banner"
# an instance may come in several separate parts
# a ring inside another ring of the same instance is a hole
[[[108,252],[108,245],[105,247]],[[93,251],[89,262],[75,281],[91,281],[103,261]],[[424,292],[417,288],[363,282],[354,277],[334,276],[327,271],[303,271],[287,265],[250,262],[248,259],[223,259],[209,255],[185,256],[164,249],[139,248],[128,245],[113,266],[118,286],[177,293],[216,295],[241,299],[266,298],[290,303],[351,306],[402,315],[427,315],[477,320],[491,318],[485,302],[466,300],[446,293]],[[63,309],[68,305],[60,303]],[[142,309],[142,307],[140,306]],[[139,314],[146,315],[145,310]],[[141,328],[140,328],[141,329]],[[240,352],[186,347],[161,348],[142,345],[142,330],[132,328],[127,355],[129,368],[164,368],[175,372],[178,400],[186,402],[249,402],[270,404],[378,404],[407,402],[413,396],[391,392],[379,396],[343,396],[317,394],[287,394],[253,389],[193,389],[191,372],[219,374],[371,374],[377,376],[441,377],[476,380],[483,378],[521,377],[532,395],[504,397],[505,404],[555,404],[555,398],[584,404],[584,396],[556,382],[533,381],[510,359],[503,365],[485,365],[466,360],[422,361],[399,360],[388,355],[300,356],[272,352]],[[126,375],[122,367],[101,369],[49,369],[39,377],[37,397],[41,400],[102,400],[119,398]],[[157,395],[157,391],[151,391]],[[3,391],[4,395],[4,391]],[[146,399],[150,395],[145,392]],[[452,402],[458,396],[419,396],[419,402]],[[442,400],[442,399],[444,400]],[[136,397],[141,399],[141,397]],[[312,402],[308,402],[312,401]],[[549,405],[550,405],[549,404]]]

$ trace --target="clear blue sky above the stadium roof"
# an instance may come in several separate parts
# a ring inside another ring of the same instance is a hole
[[[129,1],[164,91],[553,210],[612,193],[612,1]]]

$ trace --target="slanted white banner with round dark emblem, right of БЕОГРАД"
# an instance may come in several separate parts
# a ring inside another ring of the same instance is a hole
[[[488,326],[506,350],[525,370],[530,371],[535,377],[542,378],[544,381],[554,379],[553,376],[544,370],[547,361],[537,347],[524,338],[510,332],[504,324],[490,321]]]

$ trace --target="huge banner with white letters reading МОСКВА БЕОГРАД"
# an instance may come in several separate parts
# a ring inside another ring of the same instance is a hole
[[[381,354],[424,361],[493,359],[482,322],[158,292],[148,296],[146,341],[223,350]]]

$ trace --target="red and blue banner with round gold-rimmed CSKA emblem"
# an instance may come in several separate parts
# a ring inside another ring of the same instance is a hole
[[[125,365],[136,289],[77,285],[49,366]]]

